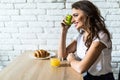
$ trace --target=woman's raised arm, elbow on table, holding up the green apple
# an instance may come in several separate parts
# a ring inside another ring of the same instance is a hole
[[[61,23],[61,34],[60,34],[60,41],[58,47],[58,57],[60,59],[66,58],[69,52],[74,52],[76,49],[76,41],[72,41],[71,44],[68,45],[66,48],[66,36],[67,31],[70,26],[66,25],[65,20]]]

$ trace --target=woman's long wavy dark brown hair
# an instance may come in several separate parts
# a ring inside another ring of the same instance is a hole
[[[106,28],[104,23],[104,18],[101,16],[99,9],[90,1],[83,0],[77,1],[72,4],[72,9],[80,9],[85,14],[85,20],[83,20],[83,26],[86,26],[90,33],[87,36],[85,45],[89,48],[93,39],[99,38],[98,33],[100,31],[108,34],[108,39],[110,39],[110,33]]]

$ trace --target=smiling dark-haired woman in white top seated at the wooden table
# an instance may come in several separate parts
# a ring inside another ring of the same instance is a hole
[[[67,58],[78,73],[87,72],[84,80],[114,80],[111,67],[112,42],[98,8],[87,0],[73,3],[72,23],[79,35],[66,47],[70,26],[63,20],[58,56]]]

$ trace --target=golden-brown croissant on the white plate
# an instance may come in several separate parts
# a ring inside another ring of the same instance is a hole
[[[45,58],[48,57],[50,55],[50,53],[48,53],[46,50],[40,49],[40,50],[36,50],[34,52],[34,56],[37,58]]]

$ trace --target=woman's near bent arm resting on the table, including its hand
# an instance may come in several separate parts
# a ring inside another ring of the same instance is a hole
[[[77,61],[71,55],[67,57],[67,60],[73,69],[79,73],[83,73],[93,65],[104,48],[106,46],[103,43],[96,41],[91,44],[83,60]]]

